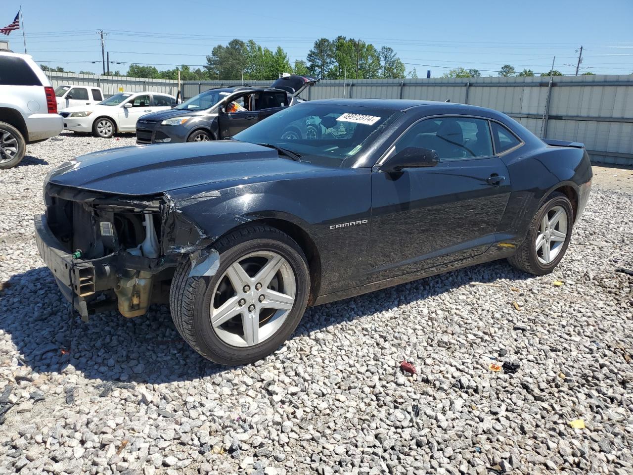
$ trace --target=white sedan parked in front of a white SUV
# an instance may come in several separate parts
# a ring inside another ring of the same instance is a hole
[[[134,132],[139,117],[167,110],[176,98],[156,92],[120,92],[97,104],[68,107],[60,111],[64,129],[92,132],[95,137],[109,138],[115,132]]]

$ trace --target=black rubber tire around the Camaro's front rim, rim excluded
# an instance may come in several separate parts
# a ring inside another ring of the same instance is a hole
[[[242,365],[270,355],[294,332],[303,316],[310,294],[310,272],[303,251],[287,234],[267,225],[236,229],[217,241],[220,268],[211,277],[188,277],[191,263],[180,264],[170,289],[173,322],[182,338],[204,358],[222,365]],[[273,251],[291,266],[296,281],[294,304],[276,333],[253,346],[232,346],[218,337],[211,326],[210,305],[213,290],[225,270],[254,251]]]

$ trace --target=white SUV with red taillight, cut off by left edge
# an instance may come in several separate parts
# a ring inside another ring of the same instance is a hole
[[[0,168],[20,163],[27,144],[61,132],[55,92],[27,54],[0,51]]]

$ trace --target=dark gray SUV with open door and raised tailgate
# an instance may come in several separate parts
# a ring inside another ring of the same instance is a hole
[[[143,115],[136,122],[136,143],[220,140],[304,99],[299,94],[318,79],[289,75],[270,87],[216,87],[174,106]]]

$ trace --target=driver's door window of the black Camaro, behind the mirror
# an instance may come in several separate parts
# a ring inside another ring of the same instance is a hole
[[[437,117],[413,125],[396,142],[396,153],[407,147],[434,150],[439,160],[492,156],[488,121],[470,117]]]

